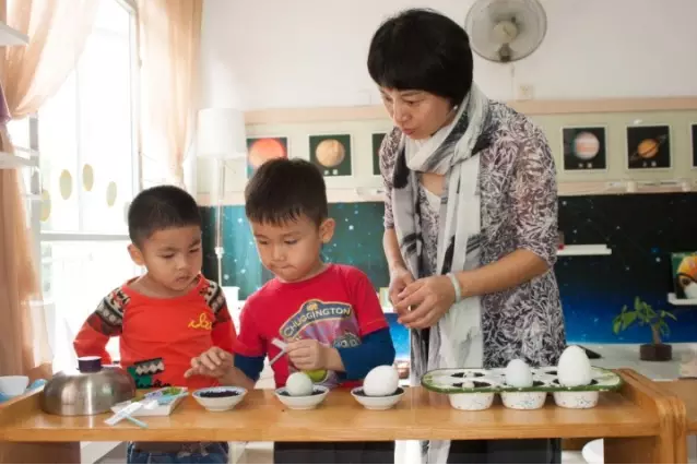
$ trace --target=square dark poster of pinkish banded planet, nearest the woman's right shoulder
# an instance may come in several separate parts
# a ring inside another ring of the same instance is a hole
[[[564,170],[607,169],[606,132],[603,127],[563,128]]]

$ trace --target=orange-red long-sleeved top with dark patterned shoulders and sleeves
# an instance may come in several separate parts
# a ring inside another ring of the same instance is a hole
[[[191,358],[212,346],[233,349],[235,326],[223,289],[199,276],[187,295],[157,299],[133,290],[133,281],[109,293],[87,318],[73,343],[78,356],[99,356],[109,365],[106,344],[119,337],[120,365],[139,389],[216,385],[213,378],[185,379],[184,373]]]

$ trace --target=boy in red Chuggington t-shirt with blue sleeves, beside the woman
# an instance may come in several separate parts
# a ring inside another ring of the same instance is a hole
[[[246,213],[263,265],[275,277],[247,299],[234,357],[213,348],[189,374],[253,389],[264,357],[288,343],[272,368],[276,386],[294,371],[330,388],[359,384],[375,367],[392,365],[394,346],[377,294],[359,270],[326,264],[321,248],[334,233],[324,179],[300,159],[274,159],[255,172]],[[274,463],[394,463],[393,442],[276,442]]]

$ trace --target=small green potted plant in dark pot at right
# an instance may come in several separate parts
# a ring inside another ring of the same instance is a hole
[[[666,323],[669,318],[677,321],[670,311],[653,310],[650,305],[636,297],[634,299],[634,310],[629,310],[627,306],[624,306],[619,314],[614,318],[613,332],[619,334],[634,324],[649,326],[653,342],[641,345],[639,358],[648,361],[668,361],[673,358],[673,347],[670,344],[663,344],[661,337],[670,334],[670,327]]]

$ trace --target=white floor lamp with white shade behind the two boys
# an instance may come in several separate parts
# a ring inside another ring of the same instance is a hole
[[[238,163],[247,157],[245,116],[233,108],[204,108],[199,111],[197,134],[198,156],[213,160],[211,203],[216,208],[215,255],[217,257],[217,283],[222,286],[223,254],[225,253],[222,240],[225,168],[228,162]]]

